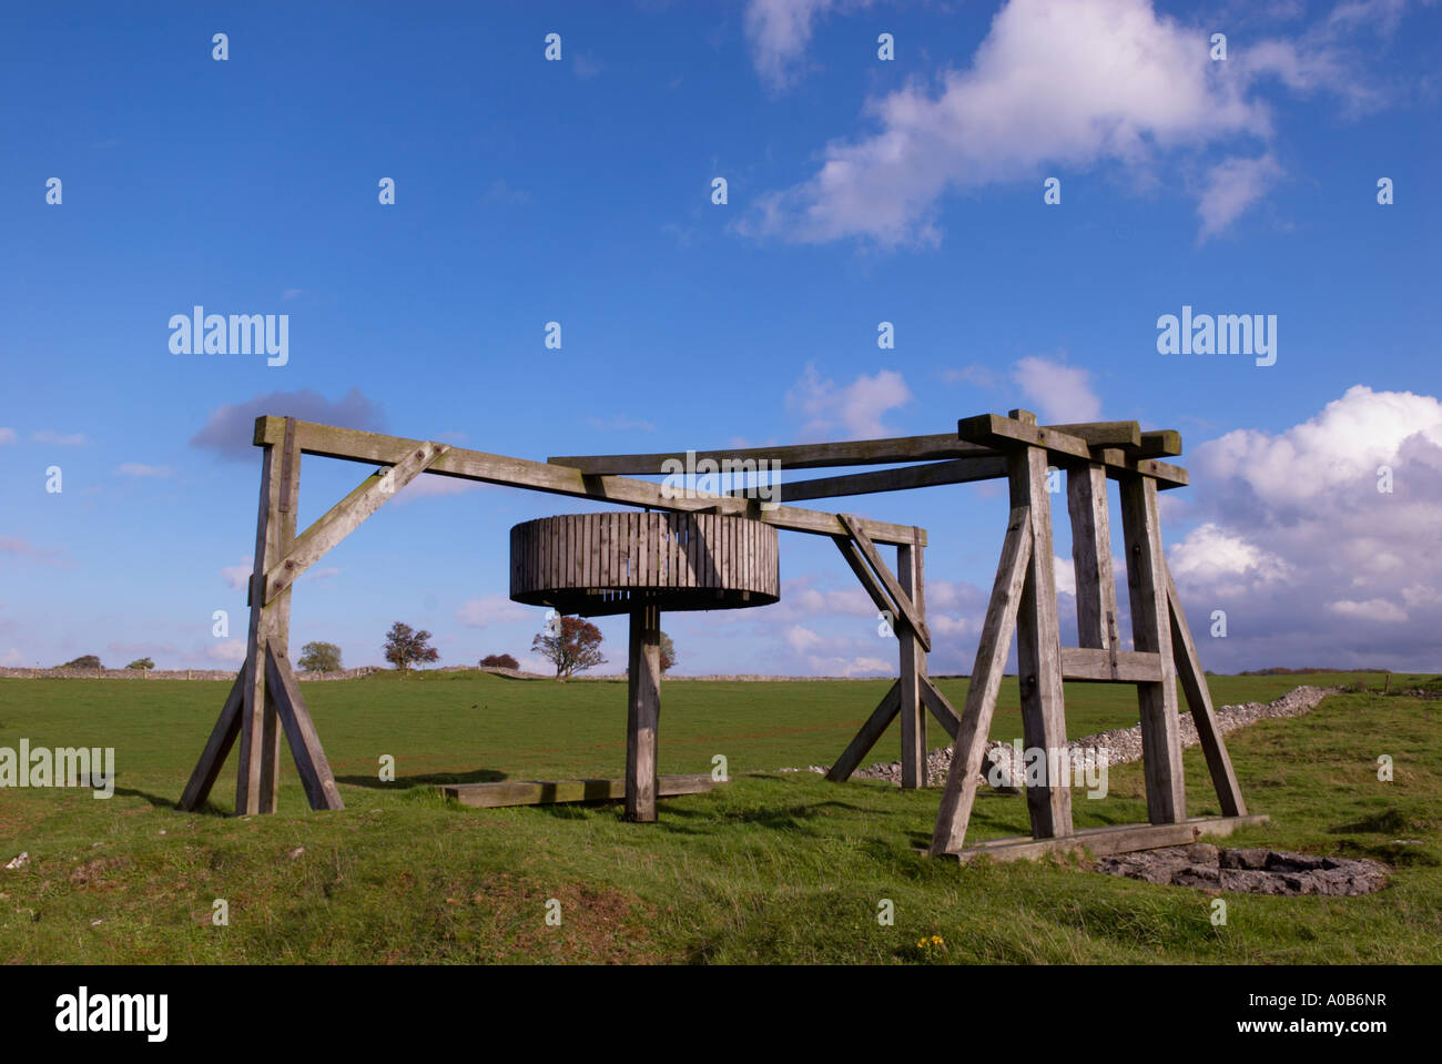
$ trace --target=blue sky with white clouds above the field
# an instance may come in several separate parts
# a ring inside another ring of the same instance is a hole
[[[1022,407],[1182,433],[1164,526],[1208,668],[1442,668],[1439,29],[1400,0],[16,9],[0,665],[235,665],[255,412],[545,458]],[[196,304],[287,314],[287,363],[172,353]],[[1184,304],[1275,314],[1276,363],[1159,355]],[[301,522],[366,473],[306,458]],[[525,659],[508,529],[587,505],[456,486],[327,555],[294,646],[379,663],[404,620],[443,665]],[[932,669],[968,670],[1002,486],[818,506],[930,529]],[[894,669],[831,544],[783,533],[782,578],[669,617],[678,672]]]

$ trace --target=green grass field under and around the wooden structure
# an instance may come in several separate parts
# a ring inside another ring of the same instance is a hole
[[[1298,683],[1380,676],[1213,678],[1220,704]],[[1393,689],[1416,678],[1393,676]],[[1272,825],[1233,838],[1374,856],[1392,885],[1361,898],[1210,898],[1082,871],[1074,862],[933,861],[937,792],[828,784],[783,766],[829,764],[884,693],[877,682],[676,682],[663,688],[662,773],[733,783],[662,802],[660,822],[617,806],[467,809],[440,781],[620,776],[624,686],[474,673],[304,685],[346,810],[310,813],[284,763],[275,816],[229,817],[176,799],[228,685],[0,680],[0,747],[115,747],[111,800],[87,790],[0,792],[0,959],[22,963],[411,962],[1442,962],[1442,702],[1374,692],[1229,737],[1243,793]],[[965,680],[942,680],[953,705]],[[1070,735],[1135,724],[1131,688],[1067,685]],[[994,738],[1021,732],[1015,680]],[[933,745],[945,734],[933,724]],[[381,783],[379,758],[397,781]],[[1394,780],[1377,780],[1390,754]],[[867,763],[898,755],[888,735]],[[234,760],[234,758],[232,758]],[[1185,755],[1188,812],[1216,813],[1201,753]],[[1110,794],[1077,794],[1079,828],[1145,820],[1139,766]],[[969,838],[1027,833],[1025,802],[983,794]],[[1400,845],[1394,839],[1420,839]],[[1229,845],[1233,845],[1229,843]],[[229,926],[212,924],[215,900]],[[545,921],[547,901],[561,926]],[[895,907],[891,927],[878,903]],[[945,947],[921,952],[923,936]]]

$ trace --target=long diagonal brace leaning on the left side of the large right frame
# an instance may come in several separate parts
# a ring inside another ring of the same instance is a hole
[[[952,767],[946,774],[946,789],[942,792],[942,806],[936,813],[936,829],[932,832],[933,855],[960,849],[966,839],[966,825],[976,802],[976,780],[982,771],[982,755],[986,753],[986,738],[991,735],[996,692],[1001,688],[1007,653],[1011,650],[1011,633],[1017,624],[1021,585],[1027,577],[1031,554],[1031,509],[1012,507],[1007,539],[1001,548],[1001,562],[996,567],[996,581],[986,603],[986,620],[976,643],[976,663],[972,666],[972,682],[966,688]]]

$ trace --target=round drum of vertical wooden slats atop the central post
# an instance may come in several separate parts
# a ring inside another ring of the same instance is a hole
[[[715,513],[577,513],[510,529],[510,597],[583,617],[780,598],[776,529]]]

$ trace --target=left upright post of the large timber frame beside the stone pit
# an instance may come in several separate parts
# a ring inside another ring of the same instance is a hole
[[[1045,781],[1027,787],[1027,807],[1032,836],[1050,839],[1071,833],[1071,790],[1070,779],[1053,780],[1050,771],[1057,764],[1054,751],[1066,750],[1067,722],[1061,693],[1061,630],[1057,623],[1047,451],[1043,447],[1019,447],[1008,456],[1008,467],[1012,510],[1027,507],[1031,518],[1031,558],[1017,611],[1021,727],[1030,748],[1047,751],[1048,766]]]

